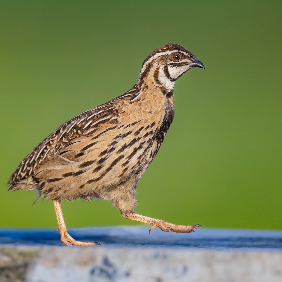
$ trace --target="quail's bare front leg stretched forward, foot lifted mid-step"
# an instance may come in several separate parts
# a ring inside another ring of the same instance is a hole
[[[144,215],[137,214],[135,212],[125,212],[121,211],[121,214],[124,218],[144,222],[147,224],[151,224],[152,227],[149,230],[149,233],[154,230],[154,228],[158,227],[160,230],[164,232],[176,232],[176,233],[191,233],[195,232],[194,229],[197,229],[198,227],[201,227],[202,225],[196,224],[196,225],[176,225],[169,222],[166,222],[161,219],[156,219],[152,217],[147,217]]]

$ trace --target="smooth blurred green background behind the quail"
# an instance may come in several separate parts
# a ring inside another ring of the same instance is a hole
[[[151,51],[177,43],[206,69],[175,85],[175,118],[136,212],[282,229],[281,1],[0,3],[0,226],[56,228],[52,202],[32,206],[36,192],[7,192],[8,178],[67,119],[129,90]],[[62,207],[68,227],[138,224],[107,201]]]

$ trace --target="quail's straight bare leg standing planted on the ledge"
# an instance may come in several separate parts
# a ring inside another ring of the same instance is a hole
[[[61,236],[61,242],[62,243],[64,243],[65,245],[76,245],[76,246],[97,246],[97,245],[101,245],[100,243],[80,242],[80,241],[74,240],[69,235],[69,233],[67,232],[67,227],[66,227],[66,224],[65,224],[65,221],[64,221],[60,201],[53,200],[53,204],[54,204],[54,207],[55,207],[56,216],[57,216],[57,220],[58,220],[58,226],[59,226],[59,228],[57,230],[59,231],[59,234]]]

